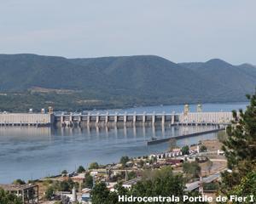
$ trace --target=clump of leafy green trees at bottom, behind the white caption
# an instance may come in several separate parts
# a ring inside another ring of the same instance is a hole
[[[92,204],[128,204],[131,202],[119,202],[119,195],[126,195],[127,197],[133,195],[135,197],[148,196],[178,196],[180,201],[177,203],[196,203],[183,202],[183,195],[198,196],[196,192],[185,191],[185,180],[180,173],[172,173],[172,167],[163,167],[160,170],[147,170],[143,179],[133,184],[131,189],[125,189],[121,183],[114,186],[114,191],[110,192],[104,183],[98,183],[91,190]],[[135,204],[143,203],[139,201],[132,202]],[[166,204],[170,202],[154,202]],[[176,202],[173,202],[176,203]],[[204,203],[204,202],[201,202]]]

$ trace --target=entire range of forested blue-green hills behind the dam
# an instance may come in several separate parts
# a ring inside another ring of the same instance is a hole
[[[153,55],[66,59],[0,54],[1,110],[17,110],[19,103],[20,109],[54,105],[80,110],[242,101],[255,85],[253,65],[221,59],[176,64]]]

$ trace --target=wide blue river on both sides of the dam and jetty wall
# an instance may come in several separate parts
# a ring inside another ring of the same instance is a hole
[[[205,104],[203,111],[232,111],[245,109],[247,103]],[[195,111],[196,105],[190,105]],[[160,105],[125,110],[137,113],[183,111],[183,105]],[[168,143],[147,145],[146,141],[184,133],[194,133],[212,127],[112,127],[112,128],[52,128],[0,127],[0,184],[16,178],[36,179],[74,171],[90,162],[102,164],[119,161],[121,156],[144,156],[168,149]],[[202,139],[215,139],[216,133],[189,139],[177,139],[177,145],[195,144]]]

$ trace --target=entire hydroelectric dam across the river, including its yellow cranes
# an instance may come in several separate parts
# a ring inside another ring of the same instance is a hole
[[[233,119],[232,112],[203,112],[201,105],[196,112],[189,111],[189,105],[184,106],[182,113],[174,111],[155,113],[55,113],[51,107],[49,111],[41,113],[8,113],[0,114],[1,126],[122,126],[122,125],[227,125]]]

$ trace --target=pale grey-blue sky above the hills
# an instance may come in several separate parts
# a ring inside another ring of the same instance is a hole
[[[255,0],[0,0],[0,54],[256,65]]]

